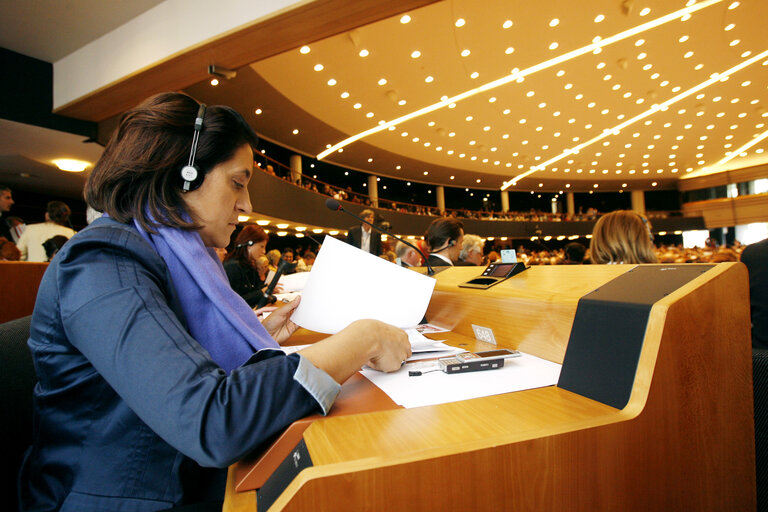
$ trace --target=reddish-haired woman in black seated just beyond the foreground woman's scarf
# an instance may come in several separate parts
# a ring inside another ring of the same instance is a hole
[[[265,283],[256,270],[256,260],[266,253],[267,241],[269,235],[261,226],[245,226],[235,238],[232,252],[224,259],[229,284],[251,307],[263,297]]]

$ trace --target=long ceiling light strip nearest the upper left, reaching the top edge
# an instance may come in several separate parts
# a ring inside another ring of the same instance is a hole
[[[465,91],[463,93],[457,94],[456,96],[453,96],[452,98],[448,98],[446,100],[440,101],[438,103],[434,103],[432,105],[428,105],[424,108],[421,108],[419,110],[416,110],[414,112],[411,112],[409,114],[406,114],[404,116],[398,117],[397,119],[393,119],[391,121],[387,121],[386,123],[382,123],[380,125],[374,126],[373,128],[370,128],[368,130],[365,130],[363,132],[360,132],[358,134],[355,134],[351,137],[348,137],[344,139],[343,141],[334,144],[330,148],[326,149],[322,153],[319,153],[317,155],[318,160],[322,160],[326,156],[330,155],[331,153],[338,151],[341,148],[344,148],[350,144],[352,144],[355,141],[358,141],[362,138],[365,138],[369,135],[373,135],[374,133],[378,133],[381,131],[386,130],[390,126],[397,126],[398,124],[401,124],[405,121],[409,121],[411,119],[414,119],[419,116],[423,116],[424,114],[428,114],[430,112],[434,112],[435,110],[441,109],[445,106],[450,105],[451,103],[458,103],[461,100],[467,99],[471,96],[474,96],[476,94],[479,94],[481,92],[486,92],[491,89],[495,89],[497,87],[500,87],[502,85],[508,84],[510,82],[514,82],[515,80],[519,78],[524,78],[528,75],[531,75],[533,73],[536,73],[538,71],[542,71],[544,69],[551,68],[552,66],[556,66],[558,64],[561,64],[563,62],[566,62],[571,59],[575,59],[576,57],[580,57],[582,55],[585,55],[587,53],[593,52],[597,50],[598,48],[603,48],[605,46],[611,45],[613,43],[616,43],[618,41],[627,39],[629,37],[632,37],[634,35],[637,35],[641,32],[645,32],[647,30],[650,30],[652,28],[658,27],[659,25],[663,25],[665,23],[669,23],[670,21],[674,21],[676,19],[682,18],[683,16],[699,11],[701,9],[704,9],[706,7],[709,7],[711,5],[720,3],[724,0],[705,0],[703,2],[699,2],[696,4],[693,4],[689,7],[685,7],[683,9],[680,9],[679,11],[675,11],[673,13],[667,14],[665,16],[662,16],[660,18],[656,18],[654,20],[651,20],[647,23],[643,23],[642,25],[638,25],[636,27],[633,27],[631,29],[625,30],[624,32],[619,32],[618,34],[614,34],[612,36],[606,37],[605,39],[601,39],[600,41],[596,41],[592,44],[588,44],[587,46],[583,46],[581,48],[578,48],[576,50],[570,51],[568,53],[564,53],[562,55],[559,55],[557,57],[554,57],[552,59],[549,59],[544,62],[540,62],[538,64],[535,64],[529,68],[526,68],[521,71],[516,71],[514,73],[510,73],[509,75],[506,75],[502,78],[499,78],[497,80],[494,80],[492,82],[488,82],[486,84],[483,84],[479,87],[476,87],[474,89],[470,89],[468,91]]]

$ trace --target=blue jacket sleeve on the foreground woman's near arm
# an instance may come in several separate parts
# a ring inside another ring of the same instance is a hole
[[[300,356],[261,351],[227,376],[174,314],[156,268],[123,251],[72,249],[56,276],[67,338],[181,453],[223,467],[322,412],[295,378]]]

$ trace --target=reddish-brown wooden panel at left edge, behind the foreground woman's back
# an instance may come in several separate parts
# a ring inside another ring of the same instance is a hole
[[[31,315],[47,263],[0,261],[0,323]]]

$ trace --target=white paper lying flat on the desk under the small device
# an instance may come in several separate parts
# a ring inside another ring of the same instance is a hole
[[[540,388],[557,384],[561,366],[530,354],[506,359],[504,367],[471,373],[449,375],[442,371],[409,377],[408,371],[422,372],[434,368],[432,363],[410,363],[393,373],[382,373],[365,368],[361,373],[403,407],[445,404]]]

